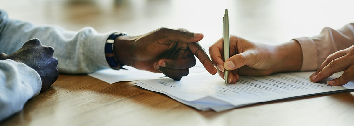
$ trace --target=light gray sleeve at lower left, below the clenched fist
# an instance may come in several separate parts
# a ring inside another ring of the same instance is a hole
[[[23,63],[0,60],[0,121],[22,110],[41,88],[39,74]]]

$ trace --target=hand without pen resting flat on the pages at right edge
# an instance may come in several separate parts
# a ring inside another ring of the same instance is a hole
[[[327,81],[331,86],[342,86],[354,79],[354,45],[344,50],[337,51],[327,57],[320,68],[310,76],[312,82],[319,82],[336,72],[344,70],[342,76]]]

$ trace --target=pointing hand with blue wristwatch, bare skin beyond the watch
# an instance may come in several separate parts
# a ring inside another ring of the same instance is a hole
[[[140,36],[120,36],[114,48],[116,59],[121,65],[156,73],[181,80],[187,76],[189,68],[195,65],[195,57],[210,74],[216,69],[198,41],[203,34],[187,29],[159,28]]]

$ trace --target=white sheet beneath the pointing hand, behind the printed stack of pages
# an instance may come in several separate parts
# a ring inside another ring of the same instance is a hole
[[[146,70],[138,70],[130,66],[124,66],[128,70],[114,70],[114,69],[104,69],[96,71],[95,73],[88,74],[99,80],[113,84],[120,81],[135,81],[135,80],[147,80],[165,77],[166,75],[162,73],[153,73]],[[189,74],[205,72],[205,68],[197,64],[196,66],[189,68]]]

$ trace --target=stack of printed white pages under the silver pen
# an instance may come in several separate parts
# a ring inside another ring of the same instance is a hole
[[[189,75],[181,81],[169,78],[136,81],[147,90],[165,93],[177,101],[199,110],[223,111],[259,102],[314,94],[354,90],[354,82],[329,86],[326,81],[341,76],[336,73],[320,83],[310,82],[312,72],[281,73],[271,76],[240,76],[235,84],[225,86],[218,75]]]

